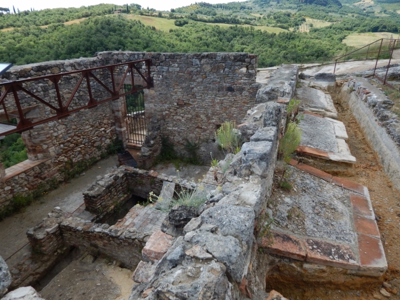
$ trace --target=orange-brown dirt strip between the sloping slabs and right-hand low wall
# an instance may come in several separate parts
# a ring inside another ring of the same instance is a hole
[[[391,295],[390,299],[400,299],[400,193],[385,175],[348,105],[336,93],[331,95],[338,119],[346,126],[351,154],[357,159],[355,175],[342,177],[368,187],[388,264],[388,270],[383,275],[384,281],[397,290],[397,295]],[[362,290],[326,290],[323,286],[297,285],[291,290],[278,291],[289,299],[299,300],[388,299],[379,292],[381,287],[379,282],[366,285]]]

